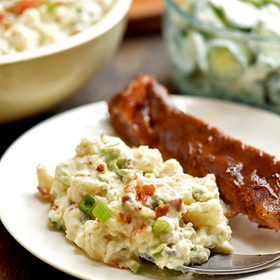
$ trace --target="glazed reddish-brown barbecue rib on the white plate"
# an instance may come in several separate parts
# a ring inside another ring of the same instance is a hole
[[[280,229],[280,161],[180,111],[154,77],[138,76],[108,102],[110,120],[133,145],[158,148],[193,176],[216,176],[232,215]]]

